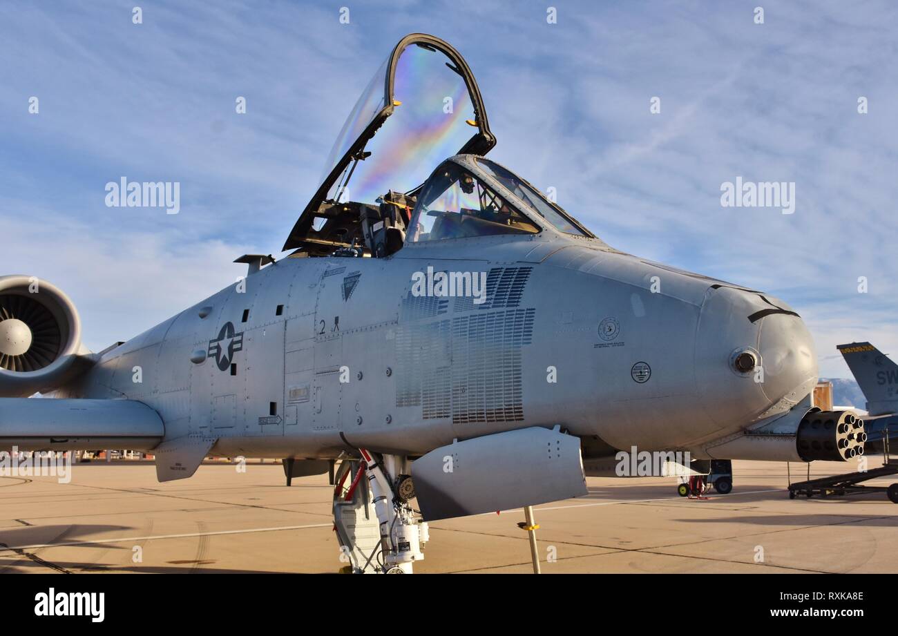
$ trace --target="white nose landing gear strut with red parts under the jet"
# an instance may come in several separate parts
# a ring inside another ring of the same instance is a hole
[[[427,523],[409,505],[414,486],[399,455],[360,449],[361,460],[339,465],[333,496],[340,561],[353,573],[411,574],[422,561]]]

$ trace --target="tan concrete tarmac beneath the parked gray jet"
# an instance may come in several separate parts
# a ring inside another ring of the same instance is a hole
[[[806,464],[790,470],[806,479]],[[811,476],[853,470],[815,462]],[[587,496],[535,507],[542,571],[898,571],[898,506],[885,493],[790,500],[786,464],[733,472],[730,494],[701,500],[678,496],[674,478],[587,478]],[[287,488],[270,463],[204,464],[167,483],[151,462],[75,464],[68,483],[0,477],[0,572],[337,572],[332,489],[327,475]],[[523,520],[518,509],[437,521],[415,571],[530,573]]]

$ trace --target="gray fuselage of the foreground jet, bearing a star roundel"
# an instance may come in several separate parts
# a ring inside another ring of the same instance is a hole
[[[416,296],[428,267],[487,272],[486,301]],[[762,382],[733,368],[745,349]],[[332,458],[556,424],[601,446],[698,448],[815,381],[810,336],[781,302],[545,231],[286,258],[57,396],[145,402],[165,439],[214,437],[216,455]]]

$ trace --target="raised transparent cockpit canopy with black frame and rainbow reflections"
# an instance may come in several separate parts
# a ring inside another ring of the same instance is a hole
[[[462,56],[434,36],[408,35],[349,114],[284,249],[365,249],[358,237],[376,241],[377,227],[409,224],[413,195],[437,164],[456,154],[486,155],[495,145]]]

